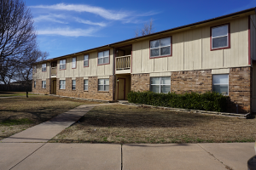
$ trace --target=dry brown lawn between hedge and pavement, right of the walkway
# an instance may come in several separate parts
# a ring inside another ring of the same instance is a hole
[[[166,111],[129,105],[96,106],[51,142],[166,144],[254,142],[256,119]]]

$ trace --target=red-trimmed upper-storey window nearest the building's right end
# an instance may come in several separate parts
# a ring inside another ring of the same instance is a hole
[[[230,48],[229,25],[212,27],[212,49]]]

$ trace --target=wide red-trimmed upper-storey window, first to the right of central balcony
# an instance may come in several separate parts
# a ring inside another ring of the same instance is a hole
[[[150,41],[150,58],[171,55],[171,37]]]

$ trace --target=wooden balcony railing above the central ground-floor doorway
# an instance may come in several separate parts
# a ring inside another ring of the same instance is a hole
[[[131,55],[115,58],[116,74],[131,73]]]

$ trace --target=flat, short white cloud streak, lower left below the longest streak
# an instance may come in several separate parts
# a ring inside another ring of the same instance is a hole
[[[88,29],[70,29],[67,28],[49,28],[45,30],[38,30],[38,35],[54,35],[65,37],[91,37],[97,31],[95,28]]]

